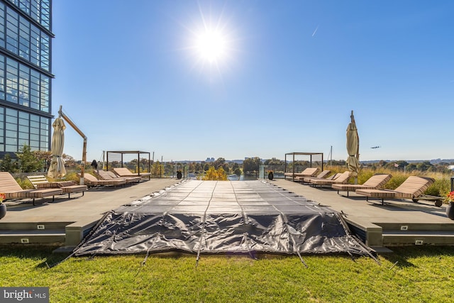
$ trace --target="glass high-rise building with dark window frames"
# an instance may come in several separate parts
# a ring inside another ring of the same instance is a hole
[[[52,0],[0,0],[0,159],[50,150]]]

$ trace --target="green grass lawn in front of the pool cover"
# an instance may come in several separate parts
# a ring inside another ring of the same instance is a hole
[[[453,247],[339,255],[69,258],[52,247],[0,247],[0,285],[50,287],[50,302],[449,302]]]

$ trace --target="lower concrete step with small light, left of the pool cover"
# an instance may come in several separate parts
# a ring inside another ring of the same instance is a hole
[[[1,244],[51,244],[65,243],[65,230],[14,230],[0,231]]]

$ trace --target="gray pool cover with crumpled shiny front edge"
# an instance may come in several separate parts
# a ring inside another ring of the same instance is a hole
[[[340,214],[265,180],[181,182],[109,212],[74,255],[370,255]]]

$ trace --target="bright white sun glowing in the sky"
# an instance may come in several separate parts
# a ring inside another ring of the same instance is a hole
[[[219,62],[226,56],[227,39],[220,31],[206,29],[196,38],[196,51],[202,60]]]

